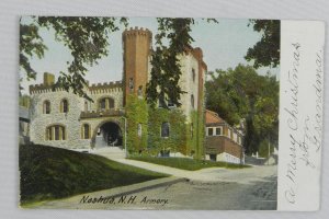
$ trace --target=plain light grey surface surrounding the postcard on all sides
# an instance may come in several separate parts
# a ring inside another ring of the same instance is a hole
[[[208,18],[258,18],[303,19],[329,22],[328,0],[2,0],[0,1],[0,162],[5,181],[0,186],[0,209],[3,218],[326,218],[329,215],[329,153],[322,149],[322,191],[320,211],[259,212],[259,211],[94,211],[94,210],[20,210],[18,209],[18,44],[19,15],[122,15],[127,16],[208,16]],[[328,35],[326,35],[325,64],[329,61]],[[325,66],[327,70],[328,67]],[[328,77],[327,77],[328,78]],[[328,81],[325,78],[325,81]],[[326,84],[326,83],[325,83]],[[325,92],[325,134],[329,125],[329,88]],[[324,146],[329,143],[324,136]]]

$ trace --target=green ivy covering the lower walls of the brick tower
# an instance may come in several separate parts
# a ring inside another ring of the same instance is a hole
[[[152,108],[135,94],[127,97],[127,148],[129,153],[158,155],[161,151],[181,152],[203,158],[204,119],[194,111],[191,123],[180,108]],[[169,123],[169,136],[161,137],[161,126]],[[138,124],[141,136],[138,136]]]

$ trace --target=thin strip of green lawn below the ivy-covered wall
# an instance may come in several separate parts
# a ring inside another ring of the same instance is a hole
[[[149,163],[156,163],[160,165],[167,165],[177,169],[183,169],[188,171],[196,171],[204,168],[228,168],[228,169],[241,169],[250,168],[250,165],[226,163],[226,162],[214,162],[214,161],[203,161],[189,158],[159,158],[159,157],[132,157],[132,160],[145,161]]]

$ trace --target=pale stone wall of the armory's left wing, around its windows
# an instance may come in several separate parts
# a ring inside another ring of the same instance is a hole
[[[105,120],[116,122],[118,118],[97,117],[80,119],[80,114],[84,111],[86,100],[78,95],[63,90],[52,91],[42,90],[32,93],[31,101],[31,141],[34,143],[48,145],[60,148],[80,148],[87,149],[91,147],[91,139],[81,138],[81,127],[89,124],[91,134],[95,131],[98,126]],[[122,108],[122,90],[114,89],[110,92],[94,92],[90,97],[94,101],[89,102],[90,110],[97,110],[98,100],[102,96],[111,96],[115,100],[115,107]],[[60,113],[60,101],[68,101],[68,113]],[[43,113],[44,101],[50,102],[50,114]],[[46,140],[46,128],[50,125],[63,125],[66,129],[65,140]]]

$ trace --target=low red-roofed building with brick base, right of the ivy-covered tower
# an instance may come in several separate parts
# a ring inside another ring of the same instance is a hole
[[[231,127],[217,113],[206,111],[206,160],[245,163],[243,134]]]

